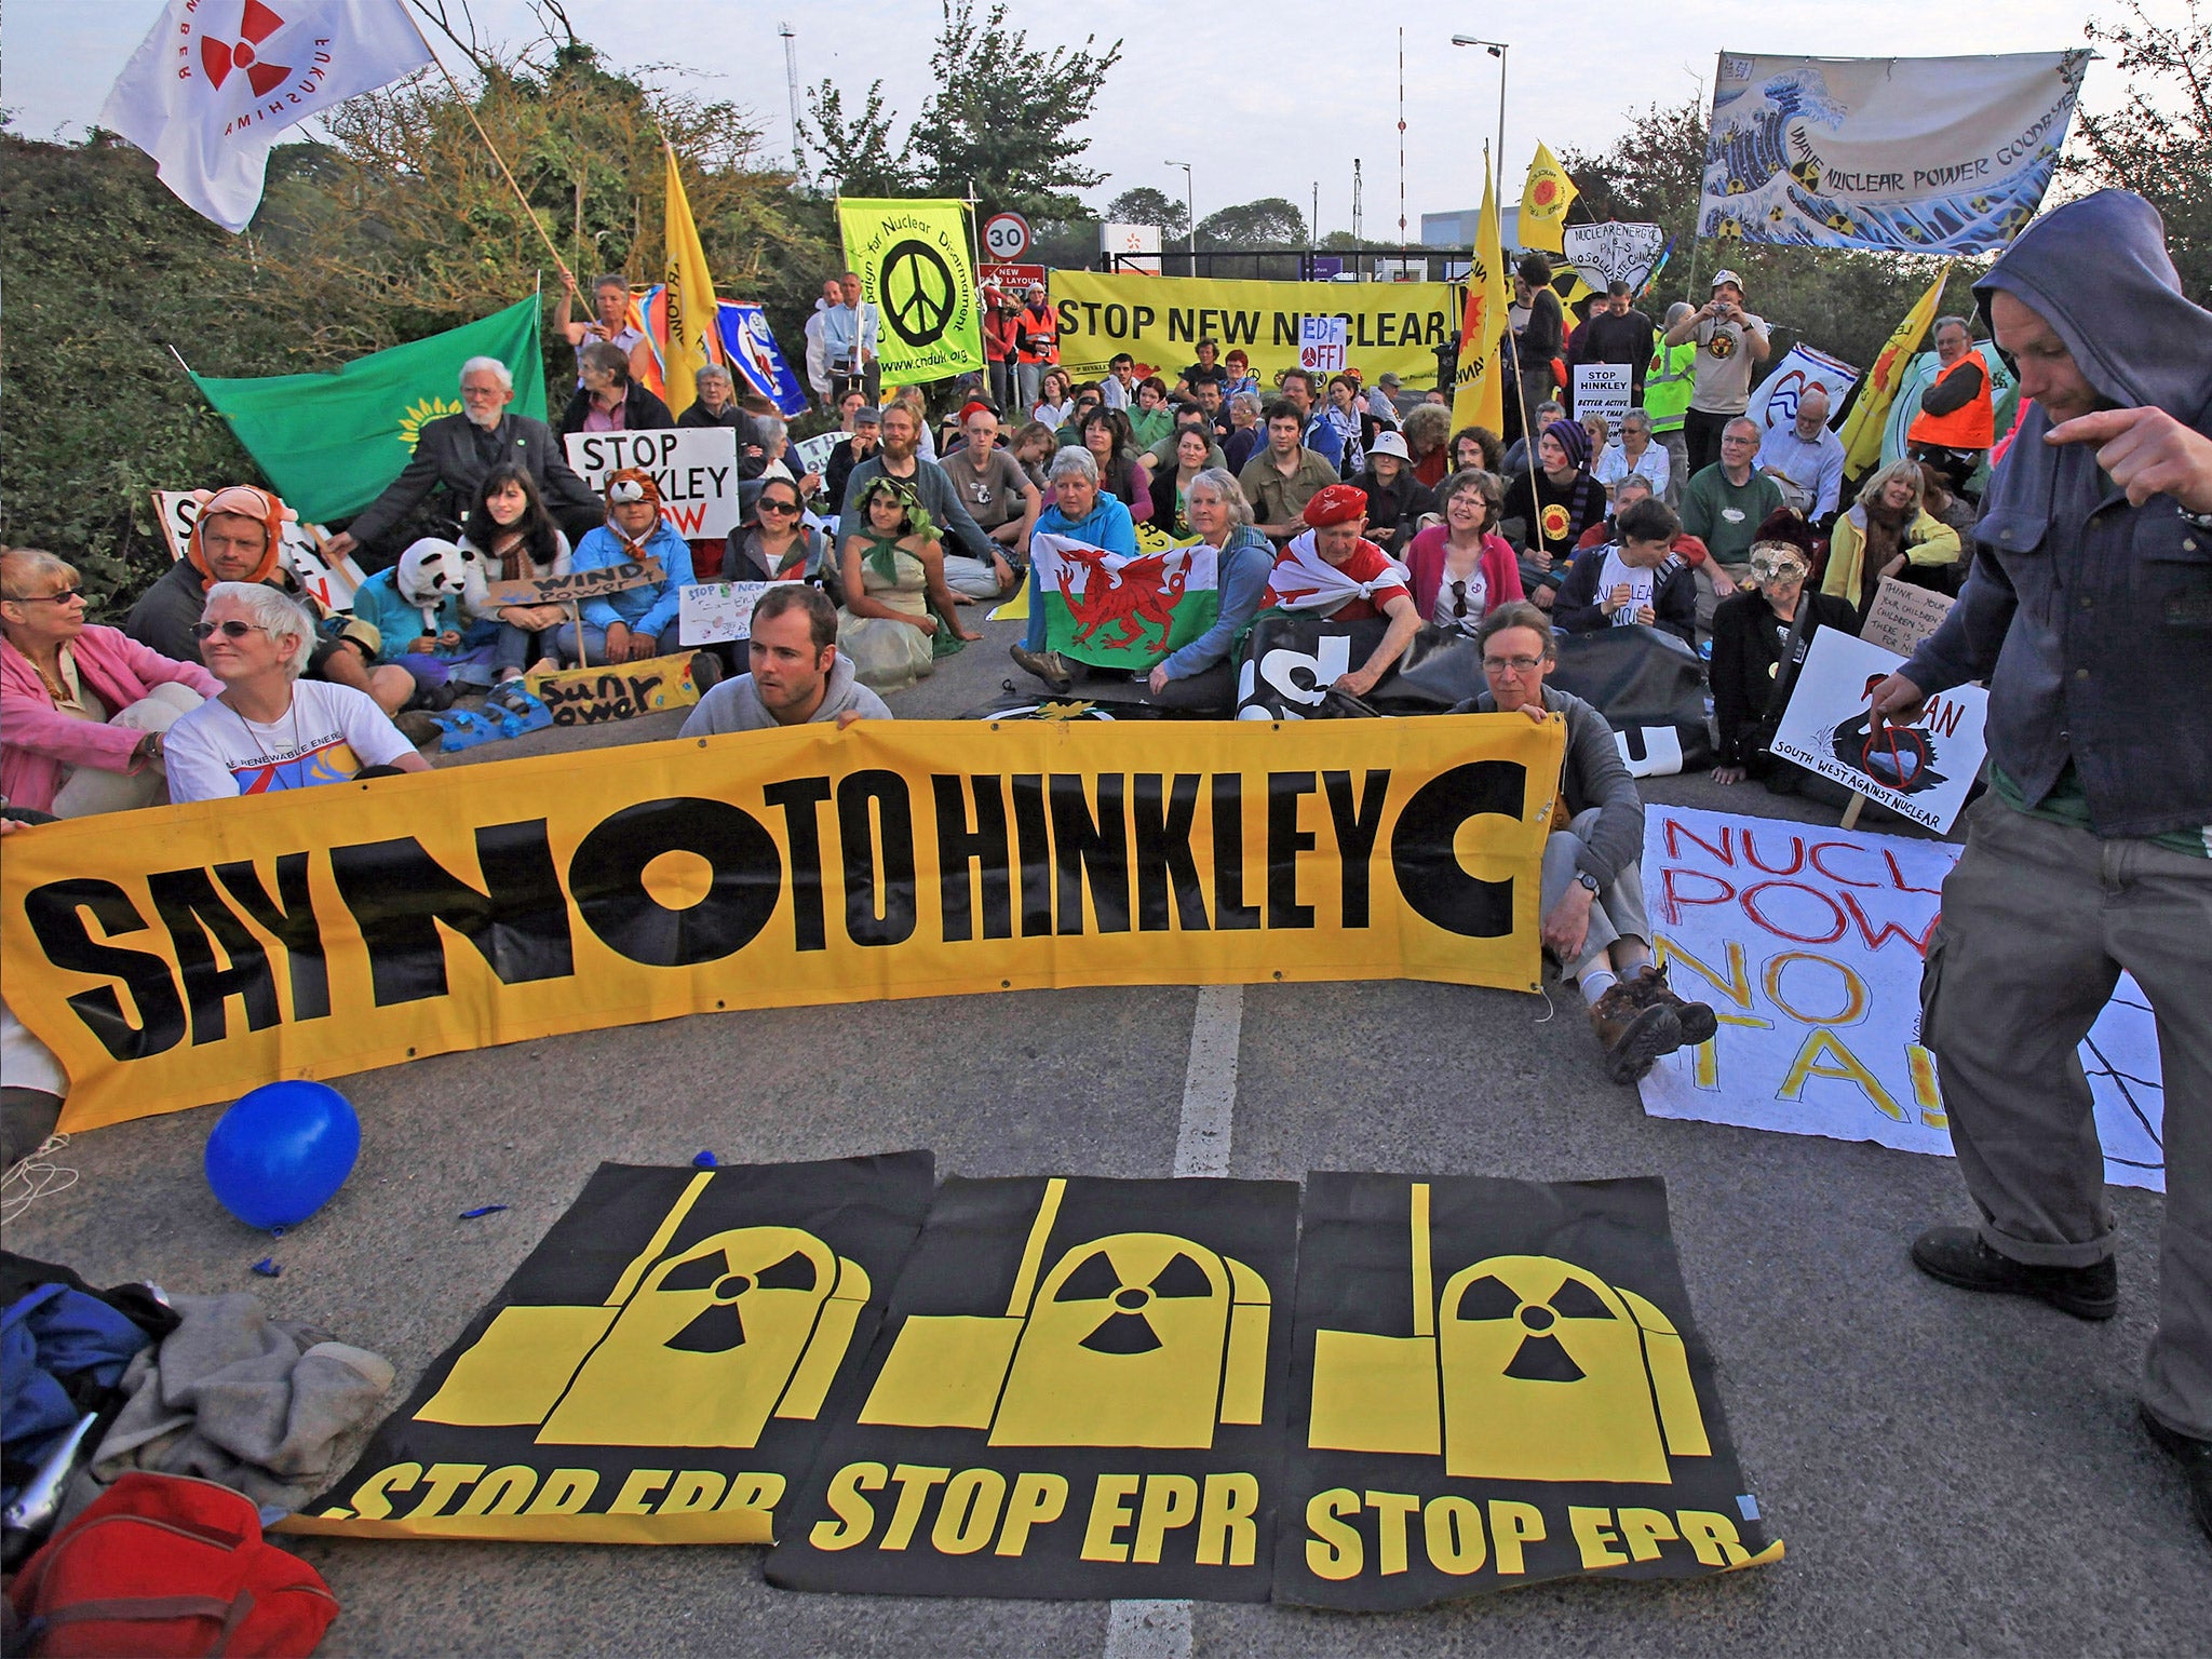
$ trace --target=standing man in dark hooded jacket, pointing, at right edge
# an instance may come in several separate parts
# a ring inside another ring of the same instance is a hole
[[[2077,1318],[2119,1307],[2081,1071],[2121,971],[2159,1022],[2166,1230],[2143,1427],[2212,1533],[2212,312],[2126,190],[2028,226],[1975,299],[2033,407],[1982,502],[1964,593],[1869,692],[1913,719],[1989,684],[1989,794],[1920,982],[1980,1210],[1913,1263]]]

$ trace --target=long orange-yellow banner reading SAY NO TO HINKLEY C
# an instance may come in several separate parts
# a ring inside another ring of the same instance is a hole
[[[42,825],[7,1000],[62,1128],[721,1009],[1533,989],[1562,728],[865,721]]]

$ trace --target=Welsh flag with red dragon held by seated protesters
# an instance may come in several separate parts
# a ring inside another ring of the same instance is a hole
[[[1044,644],[1095,668],[1144,670],[1214,626],[1219,555],[1206,542],[1139,531],[1139,553],[1108,553],[1066,535],[1029,538],[1031,604]]]

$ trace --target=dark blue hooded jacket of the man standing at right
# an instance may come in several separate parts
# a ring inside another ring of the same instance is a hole
[[[2013,294],[2119,409],[2212,436],[2212,312],[2181,296],[2157,208],[2099,190],[2028,226],[1975,283]],[[1905,664],[1989,684],[1989,757],[2033,807],[2073,761],[2101,838],[2212,823],[2212,533],[2170,495],[2130,507],[2095,445],[2028,411],[1982,500],[1973,575]]]

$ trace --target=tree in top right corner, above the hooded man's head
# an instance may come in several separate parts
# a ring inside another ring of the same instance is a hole
[[[2081,111],[2088,155],[2068,170],[2148,197],[2166,217],[2181,290],[2212,303],[2212,27],[2197,0],[2185,27],[2154,24],[2141,0],[2126,11],[2132,22],[2090,22],[2088,38],[2117,49],[2128,102],[2112,115]]]

